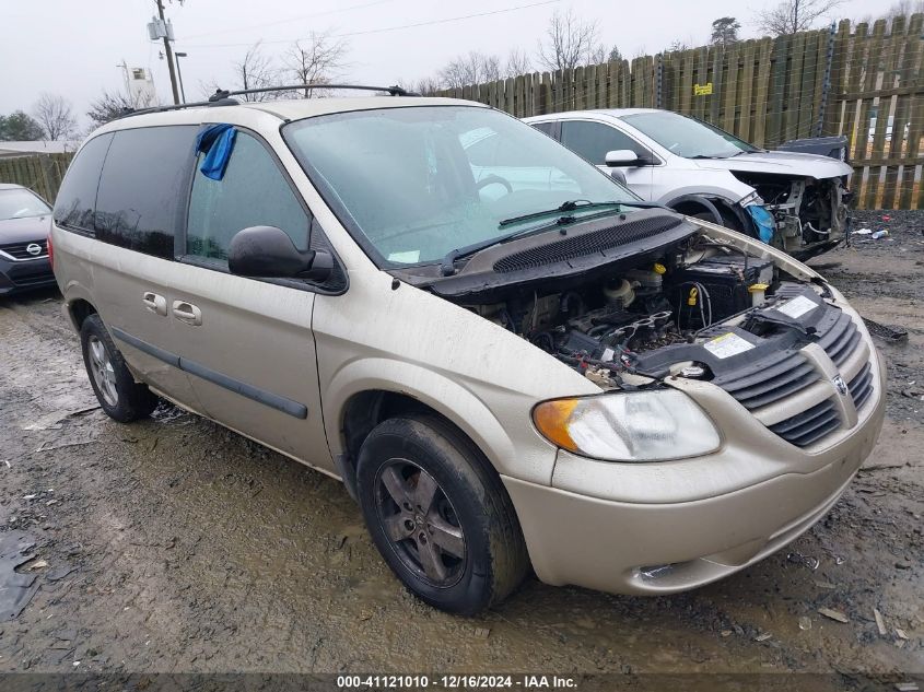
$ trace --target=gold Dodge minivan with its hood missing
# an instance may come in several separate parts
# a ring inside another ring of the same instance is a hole
[[[453,612],[530,568],[652,595],[742,570],[882,423],[881,360],[818,273],[475,103],[121,118],[49,249],[110,417],[163,397],[341,479]]]

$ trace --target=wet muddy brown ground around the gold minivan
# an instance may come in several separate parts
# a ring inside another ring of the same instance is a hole
[[[57,293],[0,300],[0,543],[34,543],[17,572],[36,589],[0,621],[0,672],[810,671],[831,689],[924,673],[924,214],[890,215],[855,226],[888,238],[812,262],[909,332],[879,341],[886,429],[827,518],[694,593],[531,578],[475,619],[410,597],[329,478],[173,408],[108,420]]]

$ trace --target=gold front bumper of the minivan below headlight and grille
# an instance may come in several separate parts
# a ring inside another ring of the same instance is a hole
[[[886,398],[885,367],[875,352],[870,360],[875,392],[859,422],[823,448],[790,445],[718,392],[698,398],[724,421],[715,454],[625,465],[559,451],[551,488],[504,477],[536,574],[554,585],[671,594],[790,543],[824,516],[873,450]]]

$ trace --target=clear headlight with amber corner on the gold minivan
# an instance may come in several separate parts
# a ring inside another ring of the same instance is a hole
[[[533,421],[552,444],[606,461],[660,461],[714,451],[718,431],[676,389],[543,401]]]

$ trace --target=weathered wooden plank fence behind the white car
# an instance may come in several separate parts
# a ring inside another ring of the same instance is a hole
[[[924,209],[924,14],[524,74],[441,95],[517,117],[668,108],[759,146],[846,134],[861,208]]]

